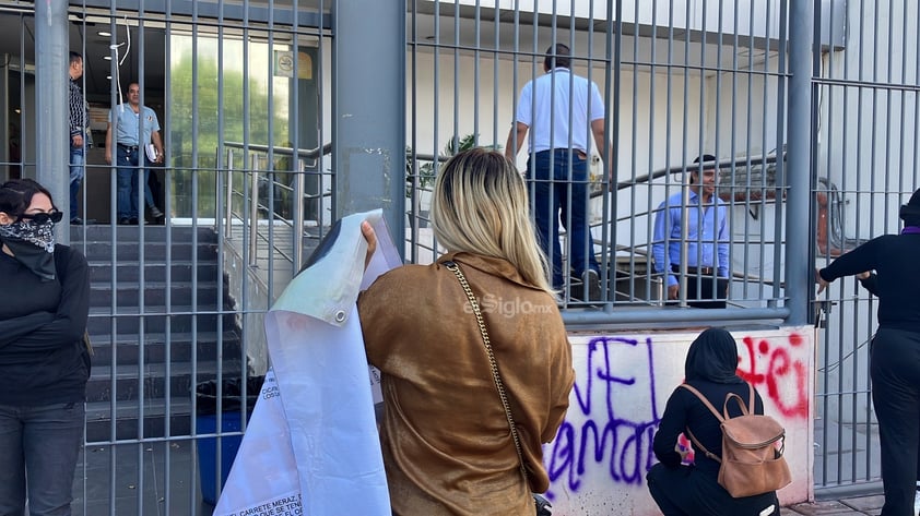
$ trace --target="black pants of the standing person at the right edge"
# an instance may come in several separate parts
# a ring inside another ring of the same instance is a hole
[[[920,333],[878,328],[870,348],[872,403],[882,445],[882,516],[916,516],[920,479]]]

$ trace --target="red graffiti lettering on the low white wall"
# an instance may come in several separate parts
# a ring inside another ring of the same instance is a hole
[[[788,347],[772,346],[769,340],[757,343],[753,337],[744,337],[747,357],[739,356],[738,374],[758,387],[760,394],[772,400],[777,409],[787,418],[806,418],[809,416],[807,364],[793,359],[790,348],[802,346],[804,339],[799,334],[790,334]],[[746,369],[745,369],[746,368]],[[762,369],[763,368],[763,369]],[[766,387],[766,389],[762,387]]]

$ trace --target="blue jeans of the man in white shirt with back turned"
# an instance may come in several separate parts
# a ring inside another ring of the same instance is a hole
[[[571,178],[569,178],[569,155]],[[531,163],[533,161],[533,163]],[[552,161],[552,166],[551,166]],[[568,228],[569,266],[577,276],[591,268],[600,274],[594,244],[588,228],[588,160],[568,149],[543,151],[527,160],[527,177],[532,182],[533,218],[536,239],[553,266],[553,287],[563,287],[559,216]],[[569,211],[571,218],[569,219]],[[567,273],[567,272],[566,272]]]

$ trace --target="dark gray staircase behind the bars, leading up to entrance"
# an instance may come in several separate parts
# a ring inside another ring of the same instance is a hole
[[[245,364],[226,287],[219,299],[217,235],[74,226],[71,245],[90,264],[86,442],[189,435],[194,386]]]

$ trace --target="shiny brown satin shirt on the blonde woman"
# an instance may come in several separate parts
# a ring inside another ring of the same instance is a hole
[[[475,316],[457,277],[479,299],[528,464],[524,484]],[[370,363],[382,371],[380,428],[393,513],[533,514],[530,491],[549,478],[553,440],[575,381],[555,300],[500,259],[451,253],[380,276],[358,297]]]

